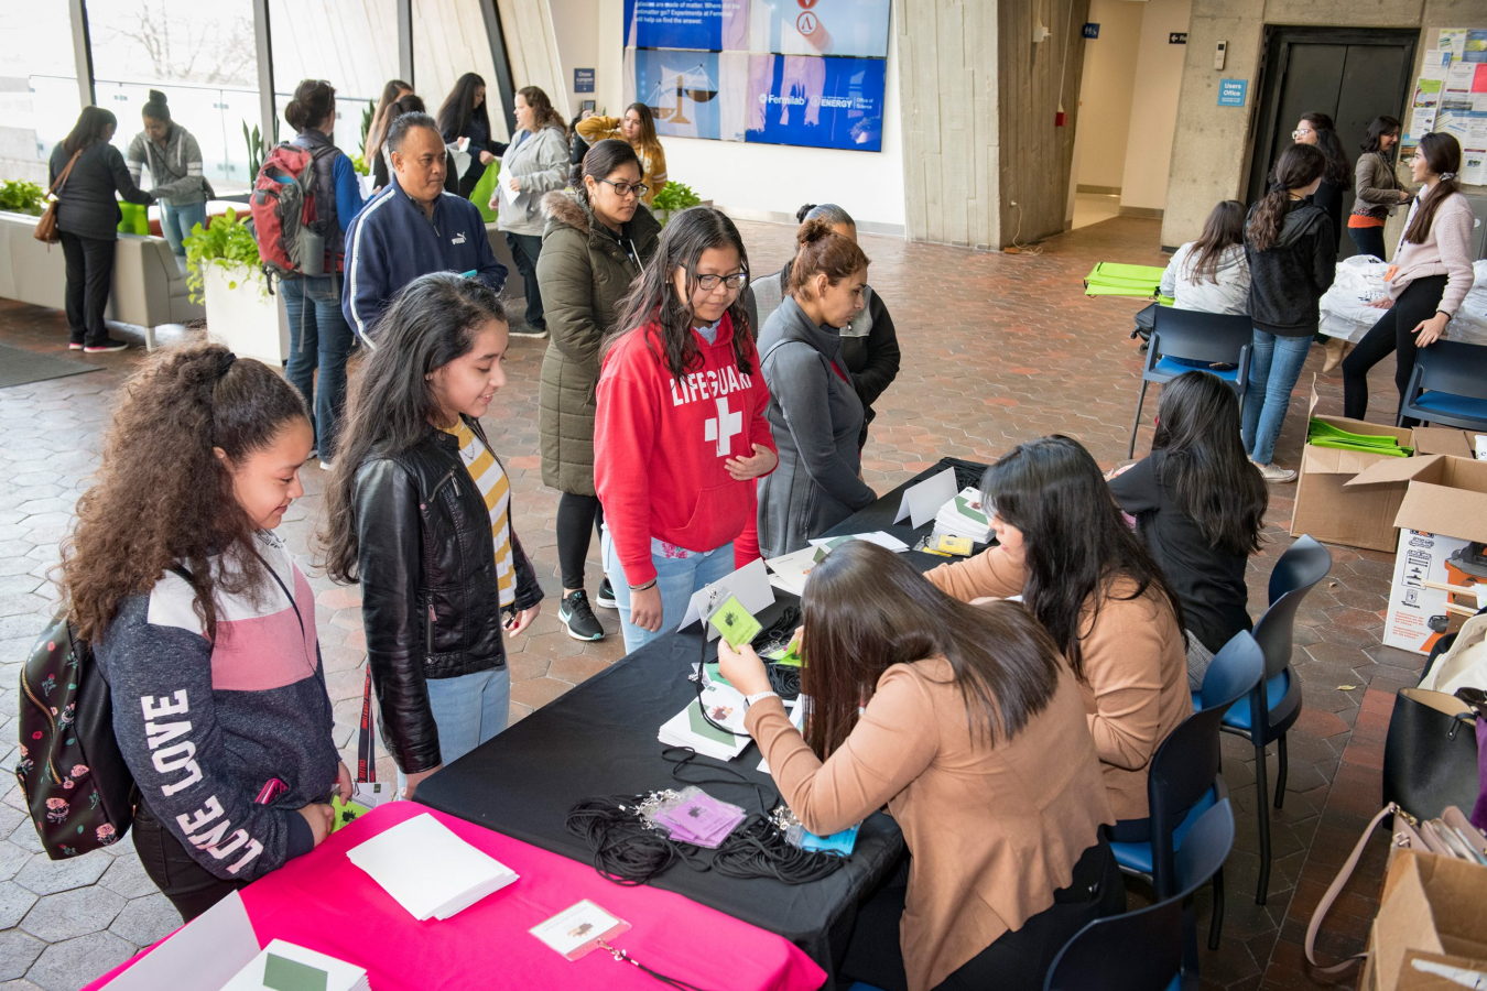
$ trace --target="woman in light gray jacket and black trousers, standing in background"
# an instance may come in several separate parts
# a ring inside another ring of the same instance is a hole
[[[512,260],[526,287],[526,322],[513,327],[515,337],[546,337],[543,293],[537,282],[537,259],[543,251],[543,196],[568,184],[568,131],[553,104],[537,86],[516,91],[516,134],[501,156],[501,187],[491,195],[498,211],[497,227],[506,233]],[[515,195],[507,199],[506,190]]]

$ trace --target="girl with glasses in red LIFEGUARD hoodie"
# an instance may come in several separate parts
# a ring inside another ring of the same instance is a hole
[[[666,224],[599,373],[593,480],[604,572],[635,651],[674,630],[691,594],[733,571],[754,478],[779,458],[769,389],[739,293],[748,256],[709,207]]]

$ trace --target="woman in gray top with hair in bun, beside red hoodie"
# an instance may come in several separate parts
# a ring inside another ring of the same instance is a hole
[[[842,333],[862,311],[867,256],[825,220],[807,220],[790,296],[764,322],[760,367],[779,467],[758,483],[766,559],[806,547],[877,495],[861,478],[862,400],[842,357]]]

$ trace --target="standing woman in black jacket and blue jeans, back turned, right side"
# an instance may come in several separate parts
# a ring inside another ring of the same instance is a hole
[[[1286,420],[1291,389],[1301,377],[1320,322],[1317,302],[1337,276],[1337,232],[1326,211],[1307,201],[1320,186],[1326,156],[1292,144],[1270,174],[1270,190],[1249,208],[1249,318],[1255,325],[1245,392],[1245,452],[1267,481],[1292,481],[1295,471],[1271,464]]]

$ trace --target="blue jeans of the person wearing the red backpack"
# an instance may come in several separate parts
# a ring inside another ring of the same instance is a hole
[[[341,312],[339,279],[329,275],[281,279],[288,311],[288,367],[284,377],[305,397],[315,420],[321,461],[336,456],[341,415],[346,407],[346,355],[355,340]],[[315,368],[320,394],[315,394]]]

